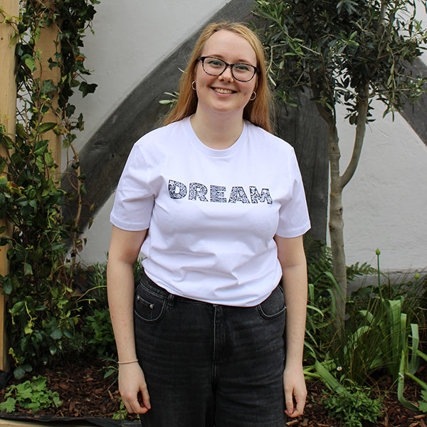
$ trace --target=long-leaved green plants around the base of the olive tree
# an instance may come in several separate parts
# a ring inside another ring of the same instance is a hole
[[[318,370],[316,374],[313,369],[322,362],[322,366],[333,371],[340,381],[365,386],[379,373],[399,379],[402,360],[407,360],[408,369],[403,374],[414,379],[411,375],[416,374],[419,357],[422,357],[418,349],[418,330],[424,324],[419,299],[423,280],[416,276],[415,283],[408,281],[400,285],[391,284],[391,280],[384,283],[379,280],[376,284],[374,280],[373,285],[364,284],[353,292],[347,301],[345,329],[337,345],[332,347],[332,319],[336,310],[332,289],[337,288],[337,283],[330,271],[327,253],[325,251],[325,256],[317,259],[317,265],[309,267],[313,271],[325,268],[325,272],[308,285],[307,376],[319,377]],[[377,273],[379,279],[385,277],[379,270]]]

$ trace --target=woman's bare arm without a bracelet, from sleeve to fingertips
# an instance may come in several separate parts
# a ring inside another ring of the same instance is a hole
[[[278,258],[282,266],[283,290],[287,307],[286,364],[283,373],[285,412],[291,418],[295,418],[302,415],[307,397],[302,370],[307,312],[307,262],[302,236],[295,238],[275,236],[274,240],[278,246]]]

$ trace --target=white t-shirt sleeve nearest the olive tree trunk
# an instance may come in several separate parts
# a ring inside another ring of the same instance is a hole
[[[276,234],[280,237],[302,236],[310,230],[310,216],[305,199],[304,186],[297,157],[292,149],[288,163],[288,179],[291,181],[290,195],[283,201],[279,209],[279,224]]]

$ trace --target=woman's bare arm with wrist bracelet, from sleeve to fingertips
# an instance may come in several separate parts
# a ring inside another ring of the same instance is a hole
[[[137,359],[133,321],[135,279],[133,266],[147,230],[125,231],[112,227],[107,264],[108,305],[120,362]],[[119,390],[130,413],[145,413],[151,408],[144,374],[139,364],[119,365]],[[142,394],[142,403],[138,394]]]

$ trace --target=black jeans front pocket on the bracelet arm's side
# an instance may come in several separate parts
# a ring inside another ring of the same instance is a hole
[[[135,292],[135,315],[144,322],[157,322],[164,315],[167,300],[139,283]]]

